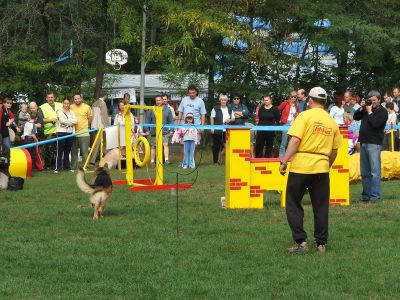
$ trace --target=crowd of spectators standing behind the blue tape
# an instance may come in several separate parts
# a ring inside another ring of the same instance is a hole
[[[274,99],[272,95],[264,95],[260,103],[251,112],[244,103],[240,94],[220,95],[217,103],[209,112],[209,124],[211,125],[236,125],[236,126],[279,126],[290,127],[294,120],[303,111],[309,109],[307,92],[304,89],[292,91],[285,99]],[[396,125],[399,120],[400,88],[396,87],[392,93],[386,92],[380,106],[388,113],[387,125]],[[60,99],[61,100],[61,99]],[[338,126],[360,125],[360,116],[357,112],[365,106],[364,98],[351,91],[343,95],[337,95],[325,107],[326,111],[334,119]],[[99,160],[100,139],[95,141],[96,131],[87,132],[89,129],[107,127],[111,124],[124,123],[124,106],[130,103],[130,95],[125,94],[111,115],[107,108],[107,93],[101,91],[99,98],[91,105],[85,103],[82,95],[77,92],[72,98],[64,97],[61,102],[56,101],[54,92],[48,92],[45,102],[38,106],[35,102],[23,103],[18,111],[12,111],[12,99],[0,97],[0,132],[1,143],[11,148],[13,143],[19,141],[22,144],[30,144],[37,141],[46,141],[53,138],[56,142],[46,143],[41,147],[28,148],[33,166],[37,170],[49,169],[55,173],[60,171],[73,172],[79,166],[79,162],[85,162],[89,150],[92,149],[90,165],[95,165]],[[183,156],[180,165],[183,168],[195,167],[195,148],[205,138],[201,128],[196,125],[207,123],[207,110],[203,99],[199,97],[196,86],[188,87],[188,95],[182,99],[177,111],[169,104],[168,95],[159,95],[154,99],[154,105],[163,107],[163,160],[170,164],[169,145],[172,142],[180,142],[184,145]],[[134,111],[132,111],[134,112]],[[356,118],[354,117],[356,115]],[[138,122],[135,115],[131,118]],[[249,122],[254,119],[254,123]],[[155,116],[152,111],[146,113],[146,124],[155,124]],[[173,130],[168,124],[186,124],[186,128]],[[192,126],[193,128],[191,128]],[[286,129],[287,127],[285,127]],[[84,134],[70,136],[74,133]],[[392,132],[395,134],[392,145]],[[151,165],[155,164],[155,128],[144,127],[135,134],[147,136],[151,145]],[[219,165],[223,162],[225,130],[211,130],[213,163]],[[349,153],[359,151],[359,131],[350,130]],[[104,137],[105,138],[105,137]],[[252,131],[253,157],[283,157],[288,145],[288,134],[285,130]],[[95,142],[94,142],[95,141]],[[104,145],[103,145],[104,146]],[[382,141],[383,150],[399,150],[399,135],[394,129],[386,129]],[[103,149],[105,153],[105,149]],[[81,160],[79,159],[79,154]]]

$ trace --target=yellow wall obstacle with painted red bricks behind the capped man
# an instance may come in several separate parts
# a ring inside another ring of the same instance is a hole
[[[341,134],[343,145],[329,174],[331,205],[350,203],[347,129]],[[280,159],[251,158],[250,129],[227,129],[225,159],[226,208],[263,208],[264,192],[273,190],[285,206],[288,173],[279,173]]]

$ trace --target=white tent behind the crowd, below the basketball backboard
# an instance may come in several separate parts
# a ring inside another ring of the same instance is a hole
[[[182,83],[181,86],[186,85]],[[136,97],[139,97],[140,91],[140,75],[105,74],[103,87],[108,90],[112,98],[123,98],[124,93],[129,93],[131,95],[131,102],[136,102]],[[205,98],[208,90],[206,76],[204,76],[198,88],[200,90],[199,96]],[[159,94],[167,93],[171,95],[172,100],[181,100],[181,91],[182,88],[171,87],[164,82],[160,74],[145,75],[145,98],[154,98]]]

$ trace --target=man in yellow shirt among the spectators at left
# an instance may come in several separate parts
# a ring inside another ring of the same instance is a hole
[[[71,105],[71,110],[75,113],[77,119],[75,133],[89,130],[89,125],[92,122],[92,109],[89,105],[83,103],[80,93],[75,93],[74,104]],[[85,163],[88,157],[89,144],[89,133],[80,134],[75,137],[71,149],[71,170],[76,170],[78,166],[78,149],[82,156],[82,163]]]

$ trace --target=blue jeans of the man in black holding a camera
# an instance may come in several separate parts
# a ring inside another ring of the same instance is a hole
[[[362,200],[381,198],[381,151],[382,145],[361,144],[360,167],[363,191]]]

